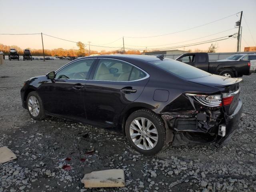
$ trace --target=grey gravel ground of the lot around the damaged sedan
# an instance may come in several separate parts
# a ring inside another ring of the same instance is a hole
[[[168,146],[143,156],[120,133],[59,118],[30,118],[21,106],[23,82],[66,62],[5,60],[0,65],[0,146],[17,156],[0,164],[0,192],[256,191],[255,73],[243,77],[244,113],[226,146]],[[64,169],[68,165],[71,170]],[[126,187],[85,189],[80,182],[86,173],[114,168],[124,170]]]

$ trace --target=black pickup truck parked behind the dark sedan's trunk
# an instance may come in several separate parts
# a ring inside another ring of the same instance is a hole
[[[250,60],[209,62],[208,53],[186,53],[176,58],[176,60],[225,77],[242,77],[251,73]]]

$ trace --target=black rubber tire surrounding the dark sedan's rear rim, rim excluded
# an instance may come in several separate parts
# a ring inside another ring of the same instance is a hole
[[[144,150],[144,149],[136,146],[136,144],[134,144],[134,142],[132,141],[132,138],[130,136],[130,125],[131,125],[132,121],[138,117],[143,117],[143,118],[147,118],[148,120],[150,120],[154,124],[154,126],[156,127],[156,130],[158,132],[158,141],[156,143],[156,146],[154,146],[154,148],[152,148],[150,150]],[[128,142],[130,143],[130,145],[135,150],[137,150],[138,152],[140,152],[141,154],[144,154],[144,155],[153,155],[153,154],[158,153],[166,143],[165,142],[166,132],[165,132],[165,127],[164,127],[164,121],[158,114],[155,114],[154,112],[152,112],[151,110],[148,110],[148,109],[137,110],[137,111],[133,112],[132,114],[130,114],[130,116],[126,120],[125,133],[126,133],[126,138],[127,138]]]

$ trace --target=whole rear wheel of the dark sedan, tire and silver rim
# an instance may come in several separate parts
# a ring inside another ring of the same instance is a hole
[[[151,110],[133,112],[126,120],[125,133],[130,145],[144,155],[158,153],[165,144],[164,122]]]

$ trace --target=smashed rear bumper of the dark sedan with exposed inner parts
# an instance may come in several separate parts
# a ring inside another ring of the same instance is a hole
[[[227,115],[221,108],[204,107],[186,112],[164,113],[161,116],[166,127],[166,142],[174,145],[212,143],[217,147],[222,146],[238,128],[241,114],[241,100],[231,115]]]

